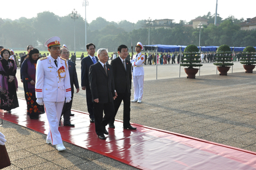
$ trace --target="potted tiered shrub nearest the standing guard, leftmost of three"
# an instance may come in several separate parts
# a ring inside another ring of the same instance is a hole
[[[184,49],[184,57],[181,60],[180,66],[188,67],[184,68],[185,73],[188,75],[186,78],[195,78],[195,74],[198,73],[198,68],[203,64],[200,64],[200,53],[198,47],[195,45],[189,45]]]

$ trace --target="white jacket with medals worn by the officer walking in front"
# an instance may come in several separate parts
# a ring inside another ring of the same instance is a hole
[[[71,97],[70,74],[66,59],[49,55],[38,59],[36,66],[36,98],[47,102],[63,102]]]

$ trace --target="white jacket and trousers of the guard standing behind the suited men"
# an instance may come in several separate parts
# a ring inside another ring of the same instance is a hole
[[[136,57],[137,56],[137,57]],[[143,96],[143,85],[144,85],[144,68],[143,63],[145,62],[144,54],[135,54],[132,56],[131,65],[132,78],[134,82],[134,99],[142,99]]]

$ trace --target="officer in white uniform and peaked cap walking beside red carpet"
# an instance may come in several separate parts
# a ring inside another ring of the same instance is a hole
[[[65,150],[58,131],[63,104],[71,101],[70,74],[66,59],[60,58],[60,38],[48,39],[45,46],[50,52],[48,57],[40,58],[36,68],[36,98],[40,105],[45,104],[49,122],[46,143],[56,145],[58,151]]]

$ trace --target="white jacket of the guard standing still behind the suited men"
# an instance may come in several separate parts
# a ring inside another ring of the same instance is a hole
[[[132,56],[131,66],[133,66],[132,75],[133,76],[144,76],[143,64],[145,62],[144,54],[139,53]]]

